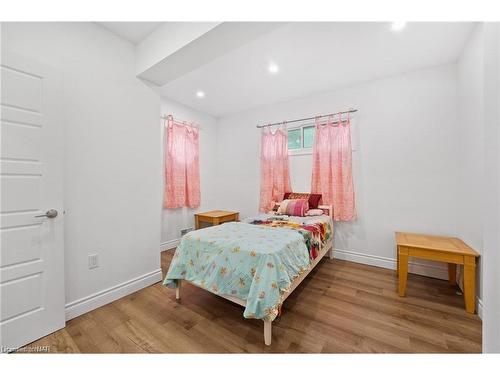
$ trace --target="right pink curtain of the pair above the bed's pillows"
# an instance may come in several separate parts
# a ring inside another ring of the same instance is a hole
[[[342,122],[326,125],[316,120],[313,146],[311,193],[322,194],[323,204],[333,206],[336,221],[356,218],[354,184],[352,180],[351,124],[349,117]]]

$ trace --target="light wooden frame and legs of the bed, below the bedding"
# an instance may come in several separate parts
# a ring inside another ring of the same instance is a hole
[[[332,206],[321,206],[320,205],[320,206],[318,206],[318,208],[326,211],[330,217],[333,217]],[[307,275],[309,275],[309,273],[314,269],[314,267],[316,267],[316,265],[321,261],[321,259],[323,259],[323,257],[325,256],[326,253],[328,253],[328,256],[330,259],[333,259],[333,238],[320,249],[319,255],[316,257],[316,259],[314,259],[311,262],[309,268],[305,272],[300,274],[292,282],[289,290],[283,294],[283,296],[281,298],[281,303],[285,302],[285,300],[288,298],[288,296],[290,294],[292,294],[292,292],[300,285],[300,283],[307,277]],[[187,280],[177,280],[177,287],[175,288],[175,298],[177,300],[181,299],[181,281],[190,283]],[[190,284],[199,288],[199,286],[196,284],[193,284],[193,283],[190,283]],[[204,290],[206,290],[206,289],[204,289]],[[210,292],[209,290],[207,290],[207,291]],[[246,301],[241,299],[241,298],[230,296],[227,294],[217,294],[217,295],[222,297],[222,298],[225,298],[231,302],[234,302],[240,306],[246,307]],[[264,322],[264,343],[266,345],[271,345],[272,321],[263,320],[263,322]]]

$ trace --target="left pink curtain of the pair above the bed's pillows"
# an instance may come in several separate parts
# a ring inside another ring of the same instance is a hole
[[[286,129],[272,133],[264,128],[260,149],[260,211],[271,210],[273,202],[281,202],[290,190]]]

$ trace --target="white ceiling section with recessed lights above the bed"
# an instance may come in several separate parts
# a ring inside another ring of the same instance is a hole
[[[167,83],[163,96],[224,116],[457,60],[473,23],[289,23]],[[279,73],[267,71],[270,61]],[[196,91],[203,90],[200,99]]]

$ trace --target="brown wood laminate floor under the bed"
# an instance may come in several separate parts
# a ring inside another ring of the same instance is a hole
[[[163,272],[173,251],[161,255]],[[191,285],[182,300],[161,283],[67,322],[29,346],[82,353],[479,353],[481,320],[447,281],[322,260],[283,306],[273,342],[242,307]]]

